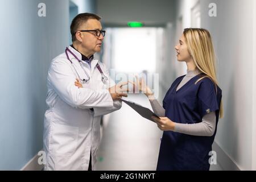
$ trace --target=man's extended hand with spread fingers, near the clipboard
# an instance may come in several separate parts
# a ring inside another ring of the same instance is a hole
[[[124,91],[129,92],[129,89],[123,89],[122,86],[125,86],[128,84],[128,81],[126,82],[119,82],[117,85],[114,85],[109,88],[110,96],[114,100],[119,100],[122,97],[127,97],[126,93],[123,93]]]

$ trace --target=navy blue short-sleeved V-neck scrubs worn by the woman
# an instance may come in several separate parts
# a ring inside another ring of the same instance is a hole
[[[199,137],[164,131],[156,170],[209,170],[208,162],[217,131],[222,92],[210,78],[197,75],[176,91],[184,76],[171,85],[163,100],[166,117],[177,123],[198,123],[205,114],[216,111],[216,128],[212,137]]]

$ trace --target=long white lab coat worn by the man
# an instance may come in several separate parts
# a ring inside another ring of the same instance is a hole
[[[69,46],[81,60],[81,54]],[[81,78],[88,78],[79,62],[69,53],[76,71]],[[104,84],[96,64],[109,78]],[[47,77],[47,105],[44,116],[45,170],[88,170],[92,150],[92,169],[95,169],[96,155],[100,144],[101,115],[111,113],[121,107],[121,101],[113,101],[107,88],[113,86],[105,65],[92,60],[91,68],[82,61],[82,67],[90,80],[83,88],[75,86],[75,69],[65,52],[52,60]],[[91,111],[89,108],[94,109]]]

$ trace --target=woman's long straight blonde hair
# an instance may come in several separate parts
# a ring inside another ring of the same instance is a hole
[[[214,53],[212,38],[208,30],[203,28],[186,28],[183,32],[188,52],[197,67],[205,76],[196,81],[208,77],[216,86],[217,93],[217,77],[216,77],[216,56]],[[220,118],[223,117],[222,101],[220,105]]]

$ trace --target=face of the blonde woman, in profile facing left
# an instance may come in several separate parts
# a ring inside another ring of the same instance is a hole
[[[191,59],[191,55],[188,52],[187,44],[185,43],[184,35],[181,36],[179,40],[179,44],[175,46],[175,50],[177,51],[177,60],[178,61],[189,61]]]

